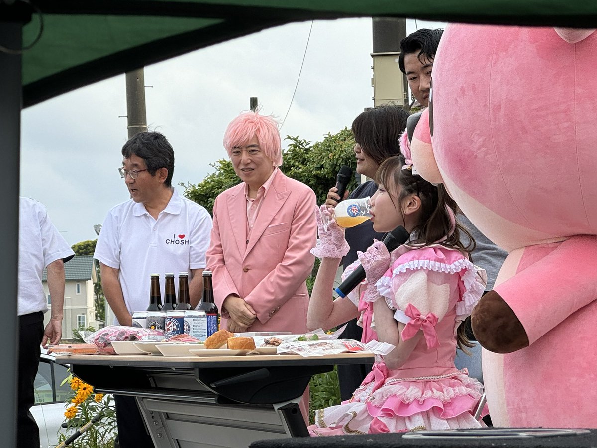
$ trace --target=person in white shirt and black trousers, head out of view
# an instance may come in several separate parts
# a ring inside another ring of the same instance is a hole
[[[39,448],[39,428],[29,411],[35,403],[33,382],[38,370],[40,345],[57,344],[62,337],[64,263],[75,253],[50,221],[40,202],[19,200],[19,391],[17,446]],[[44,329],[48,311],[42,285],[48,269],[51,318]]]

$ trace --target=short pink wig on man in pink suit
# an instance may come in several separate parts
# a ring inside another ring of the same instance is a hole
[[[224,148],[232,158],[232,148],[246,145],[257,136],[259,146],[272,161],[272,165],[282,164],[282,143],[278,132],[278,123],[273,116],[259,115],[259,112],[245,111],[233,119],[224,134]]]

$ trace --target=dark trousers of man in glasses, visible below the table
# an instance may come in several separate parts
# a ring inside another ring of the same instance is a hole
[[[153,441],[134,397],[114,395],[120,448],[153,448]]]

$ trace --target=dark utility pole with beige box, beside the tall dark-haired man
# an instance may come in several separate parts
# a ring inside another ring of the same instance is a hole
[[[407,36],[407,20],[373,18],[373,102],[374,106],[408,104],[408,82],[398,66],[400,41]]]

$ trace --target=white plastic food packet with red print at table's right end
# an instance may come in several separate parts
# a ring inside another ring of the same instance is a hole
[[[303,357],[337,355],[340,353],[370,352],[387,355],[394,349],[392,344],[372,340],[368,343],[353,339],[307,340],[284,342],[278,346],[278,354],[295,354]]]

